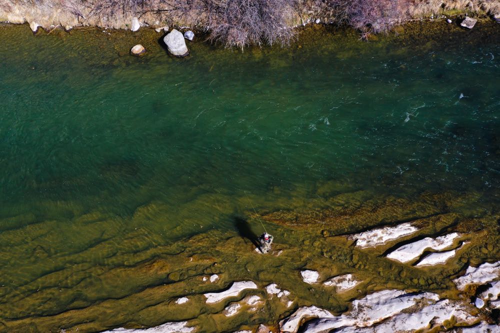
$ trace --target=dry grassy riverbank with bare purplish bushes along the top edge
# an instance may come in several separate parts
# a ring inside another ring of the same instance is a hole
[[[53,2],[53,3],[52,3]],[[366,38],[385,32],[412,20],[450,19],[465,16],[500,19],[500,1],[363,1],[343,5],[328,1],[248,1],[239,9],[231,1],[215,5],[210,0],[193,0],[188,4],[175,1],[117,1],[104,5],[100,1],[44,1],[35,4],[21,1],[0,3],[0,21],[28,23],[33,30],[47,32],[61,28],[99,27],[137,31],[140,27],[165,26],[202,31],[208,39],[225,46],[282,43],[287,44],[294,27],[312,23],[347,24]],[[252,17],[251,19],[248,17]]]

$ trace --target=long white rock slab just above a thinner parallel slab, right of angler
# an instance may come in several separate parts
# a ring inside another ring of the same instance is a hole
[[[458,237],[460,235],[457,232],[448,233],[436,238],[426,237],[398,247],[387,254],[387,257],[400,262],[408,262],[418,258],[426,248],[432,248],[437,251],[449,247],[453,245],[453,241]]]

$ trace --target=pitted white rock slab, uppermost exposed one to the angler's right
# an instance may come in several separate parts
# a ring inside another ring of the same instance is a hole
[[[411,234],[418,229],[411,222],[401,223],[396,226],[385,226],[348,236],[349,239],[356,239],[356,246],[375,247],[385,244],[388,241]]]

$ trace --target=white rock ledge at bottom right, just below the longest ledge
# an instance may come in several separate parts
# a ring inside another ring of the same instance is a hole
[[[472,324],[477,318],[464,310],[464,304],[442,299],[433,304],[428,304],[413,313],[399,313],[387,321],[374,326],[377,332],[397,332],[415,331],[429,326],[433,322],[434,326],[440,325],[444,320],[449,320],[451,316],[460,323]]]

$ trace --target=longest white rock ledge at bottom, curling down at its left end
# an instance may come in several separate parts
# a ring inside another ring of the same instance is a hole
[[[437,301],[439,296],[429,292],[406,293],[404,290],[383,290],[354,300],[350,312],[338,316],[316,306],[300,307],[288,318],[281,320],[280,326],[283,332],[294,333],[298,330],[302,318],[307,317],[318,318],[306,323],[304,332],[310,333],[329,331],[343,326],[370,326],[401,312],[422,298]]]

